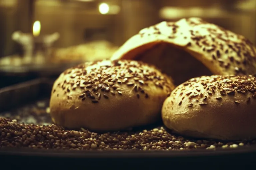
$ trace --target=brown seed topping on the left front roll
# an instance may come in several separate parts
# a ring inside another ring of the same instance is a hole
[[[114,91],[122,95],[123,90],[125,90],[123,85],[126,85],[126,88],[134,88],[134,95],[137,95],[136,92],[145,94],[145,98],[149,98],[149,95],[143,86],[148,86],[149,82],[152,82],[156,88],[164,90],[167,94],[174,89],[167,76],[157,71],[153,65],[141,61],[102,60],[86,62],[67,69],[63,72],[63,75],[66,78],[59,83],[57,88],[66,89],[67,92],[82,90],[78,98],[85,100],[84,96],[88,96],[87,99],[93,103],[99,102],[95,98],[100,99],[101,93],[104,98],[109,97],[107,95],[109,92],[115,95]],[[73,78],[70,79],[71,77]],[[73,88],[74,85],[80,88]]]

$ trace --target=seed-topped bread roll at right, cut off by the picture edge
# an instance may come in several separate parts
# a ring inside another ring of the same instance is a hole
[[[256,138],[256,78],[202,76],[172,91],[162,108],[164,125],[200,138]]]

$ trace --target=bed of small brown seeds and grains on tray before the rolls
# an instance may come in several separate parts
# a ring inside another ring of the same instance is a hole
[[[48,100],[45,101],[45,103],[48,102]],[[40,113],[42,112],[42,102],[40,105],[33,106],[37,106]],[[26,111],[28,113],[32,114],[35,112],[34,107],[25,108],[27,108]],[[47,113],[47,105],[44,107],[44,115],[49,115]],[[24,108],[19,110],[24,110]],[[23,119],[21,117],[22,114],[17,111],[13,111],[10,115],[12,118],[20,116],[21,120]],[[38,114],[32,114],[32,116],[36,117]],[[42,120],[34,118],[34,121],[37,124]],[[44,124],[49,123],[51,122],[45,122]],[[193,140],[172,135],[161,126],[147,129],[95,133],[83,128],[76,131],[65,130],[56,125],[35,124],[18,123],[17,120],[0,118],[0,147],[31,147],[64,150],[185,150],[216,149],[217,147],[235,148],[256,143],[256,140],[235,142]]]

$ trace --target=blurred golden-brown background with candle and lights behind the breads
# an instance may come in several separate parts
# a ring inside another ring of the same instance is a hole
[[[0,88],[109,58],[139,30],[184,17],[256,44],[256,0],[0,0]]]

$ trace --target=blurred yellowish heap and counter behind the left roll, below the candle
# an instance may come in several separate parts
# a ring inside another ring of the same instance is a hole
[[[88,42],[66,48],[54,48],[47,57],[44,55],[32,57],[31,64],[26,64],[24,57],[19,55],[5,56],[0,58],[0,74],[59,75],[67,68],[86,61],[108,59],[117,49],[118,46],[107,41]],[[44,63],[41,64],[41,61]]]

